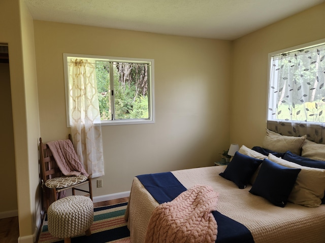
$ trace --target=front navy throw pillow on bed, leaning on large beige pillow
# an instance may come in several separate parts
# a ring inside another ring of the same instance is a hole
[[[270,203],[284,207],[301,169],[287,168],[265,158],[250,193],[263,196]]]

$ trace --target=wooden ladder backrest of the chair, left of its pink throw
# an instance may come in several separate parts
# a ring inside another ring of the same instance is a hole
[[[40,138],[40,163],[42,167],[43,182],[51,178],[62,176],[50,148],[46,144],[43,144],[42,138]]]

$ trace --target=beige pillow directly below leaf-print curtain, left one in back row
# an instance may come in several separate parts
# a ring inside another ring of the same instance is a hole
[[[302,137],[283,136],[266,129],[266,136],[263,140],[263,148],[279,153],[285,153],[289,150],[294,154],[300,155],[300,148],[304,144],[305,140],[306,135]]]

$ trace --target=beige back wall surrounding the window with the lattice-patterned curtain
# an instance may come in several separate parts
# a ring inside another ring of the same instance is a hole
[[[94,196],[128,191],[139,174],[212,166],[229,147],[230,42],[44,21],[34,26],[45,142],[70,132],[63,53],[155,61],[156,122],[102,127],[104,186],[93,186]]]

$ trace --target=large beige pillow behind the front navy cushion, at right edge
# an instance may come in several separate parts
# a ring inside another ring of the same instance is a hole
[[[319,207],[325,190],[325,170],[300,166],[273,154],[268,159],[281,166],[301,169],[288,201],[306,207]]]

